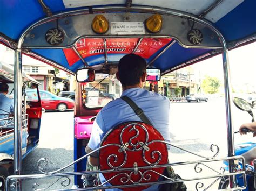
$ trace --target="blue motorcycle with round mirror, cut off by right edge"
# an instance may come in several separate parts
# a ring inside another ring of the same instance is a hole
[[[238,107],[242,111],[247,111],[252,116],[252,122],[254,122],[254,116],[252,112],[251,103],[248,103],[246,100],[238,97],[233,98],[234,105]],[[243,128],[242,131],[248,133],[255,133],[255,131],[250,131],[247,128]],[[235,132],[239,133],[239,131]],[[246,191],[255,191],[256,190],[256,173],[254,171],[256,167],[256,143],[247,142],[235,145],[235,155],[242,155],[245,158],[245,167],[246,167],[246,181],[247,187]],[[226,165],[225,170],[228,171],[228,161],[224,161]],[[237,165],[241,165],[242,163],[239,162]],[[237,175],[236,177],[237,185],[241,186],[244,185],[244,180],[241,175]],[[226,189],[229,186],[229,177],[224,176],[219,183],[219,189]]]

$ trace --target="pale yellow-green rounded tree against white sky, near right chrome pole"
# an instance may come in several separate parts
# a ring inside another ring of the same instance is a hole
[[[202,88],[206,94],[215,94],[219,91],[220,80],[217,77],[206,76]]]

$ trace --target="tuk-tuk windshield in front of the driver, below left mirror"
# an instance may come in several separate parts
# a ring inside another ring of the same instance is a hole
[[[85,107],[104,107],[122,94],[121,83],[116,75],[96,74],[95,81],[81,83],[82,99]]]

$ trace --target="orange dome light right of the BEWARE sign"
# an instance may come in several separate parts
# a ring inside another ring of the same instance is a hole
[[[152,15],[146,20],[146,29],[149,32],[157,33],[161,30],[163,24],[163,18],[161,15]]]

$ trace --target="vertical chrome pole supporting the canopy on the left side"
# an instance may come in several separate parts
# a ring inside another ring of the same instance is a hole
[[[22,50],[15,50],[14,63],[14,174],[22,173]],[[21,182],[17,182],[17,190]]]

